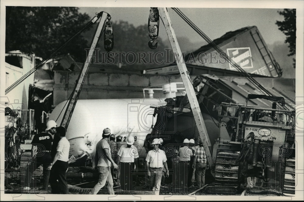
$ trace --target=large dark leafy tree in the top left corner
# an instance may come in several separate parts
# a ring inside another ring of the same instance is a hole
[[[5,51],[20,50],[47,59],[89,21],[88,14],[77,7],[6,6]],[[88,47],[81,35],[62,48],[57,55],[67,54],[83,62]]]

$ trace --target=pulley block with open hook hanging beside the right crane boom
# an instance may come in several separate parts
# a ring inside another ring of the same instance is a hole
[[[150,24],[150,22],[156,22],[156,24]],[[158,28],[159,28],[159,12],[157,8],[151,7],[149,19],[148,19],[148,32],[150,41],[148,42],[148,46],[151,49],[155,49],[157,47],[157,42],[153,45],[153,42],[158,37]]]

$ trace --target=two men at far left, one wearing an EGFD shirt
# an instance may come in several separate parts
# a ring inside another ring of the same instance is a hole
[[[50,120],[40,133],[32,139],[32,158],[26,168],[24,190],[31,190],[30,184],[33,172],[43,165],[43,190],[48,190],[50,179],[52,194],[68,194],[66,172],[68,169],[70,143],[65,137],[65,128],[57,127],[54,120]],[[54,135],[54,139],[52,137]]]

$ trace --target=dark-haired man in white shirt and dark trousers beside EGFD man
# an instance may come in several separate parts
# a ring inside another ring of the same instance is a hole
[[[57,145],[57,152],[55,157],[48,167],[51,169],[50,184],[52,188],[52,194],[68,194],[69,190],[67,187],[67,168],[69,166],[69,152],[70,143],[65,137],[65,128],[59,126],[56,128],[57,134],[59,135],[59,142]],[[58,180],[58,182],[57,182]]]

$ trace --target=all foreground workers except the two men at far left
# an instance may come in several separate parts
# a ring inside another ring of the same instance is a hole
[[[126,139],[126,144],[121,145],[122,137],[111,134],[111,130],[106,128],[102,133],[102,140],[96,145],[95,168],[98,169],[99,179],[90,194],[97,194],[98,191],[106,185],[108,194],[114,194],[113,176],[117,172],[117,183],[120,186],[119,190],[131,190],[133,182],[136,180],[138,172],[138,149],[134,144],[134,137],[129,136]],[[148,187],[159,195],[162,179],[169,177],[169,169],[167,165],[167,156],[162,146],[163,140],[154,138],[150,151],[146,156],[146,172],[149,178]],[[205,184],[205,171],[207,168],[207,159],[202,142],[195,146],[193,139],[185,139],[182,147],[177,151],[178,170],[173,171],[173,175],[178,177],[177,182],[174,182],[178,187],[200,188]],[[196,184],[192,184],[192,175],[195,175]],[[181,191],[181,190],[180,190]],[[180,192],[179,191],[179,192]]]

